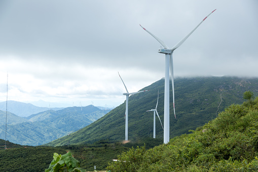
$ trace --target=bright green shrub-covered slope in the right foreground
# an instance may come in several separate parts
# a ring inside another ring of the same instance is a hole
[[[249,94],[251,93],[251,94]],[[231,105],[190,134],[153,149],[130,149],[111,171],[258,171],[258,97]]]

